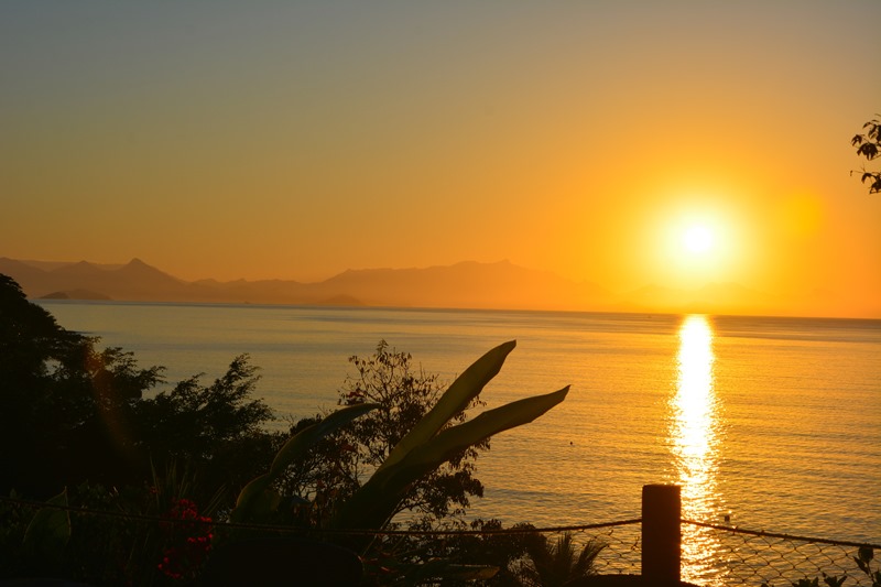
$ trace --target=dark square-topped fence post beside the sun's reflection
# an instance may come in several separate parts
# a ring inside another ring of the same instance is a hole
[[[642,576],[650,585],[678,585],[682,546],[679,486],[642,487]]]

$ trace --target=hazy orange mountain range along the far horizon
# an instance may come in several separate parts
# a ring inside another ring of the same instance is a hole
[[[509,261],[348,270],[314,283],[188,282],[140,259],[109,265],[0,257],[0,273],[18,281],[31,298],[713,314],[781,314],[780,308],[785,307],[773,296],[738,284],[709,284],[693,291],[652,285],[613,294],[595,283],[570,281]]]

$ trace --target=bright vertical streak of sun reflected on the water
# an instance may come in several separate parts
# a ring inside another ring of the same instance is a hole
[[[674,480],[682,487],[683,518],[717,522],[722,502],[717,486],[720,405],[709,319],[687,316],[679,327],[676,393],[670,405]],[[720,545],[706,530],[683,526],[683,578],[717,583]]]

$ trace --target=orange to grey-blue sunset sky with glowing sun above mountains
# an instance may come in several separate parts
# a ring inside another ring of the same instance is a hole
[[[7,0],[0,256],[302,281],[509,259],[881,315],[881,196],[849,175],[879,24],[877,0]]]

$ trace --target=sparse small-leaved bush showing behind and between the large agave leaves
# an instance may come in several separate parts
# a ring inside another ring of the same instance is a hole
[[[338,404],[368,403],[379,407],[316,443],[308,455],[293,464],[282,482],[284,493],[311,500],[312,522],[319,525],[328,523],[333,509],[349,499],[365,477],[385,461],[444,390],[437,374],[416,369],[410,354],[391,348],[384,340],[380,340],[373,355],[354,356],[349,362],[357,374],[347,378]],[[475,398],[450,418],[449,425],[464,422],[466,410],[479,405],[481,402]],[[292,426],[292,433],[319,420],[320,416],[301,420]],[[485,441],[453,455],[415,481],[392,515],[409,512],[407,525],[415,530],[463,514],[470,498],[483,494],[483,486],[474,472],[480,450],[488,448],[489,441]]]

